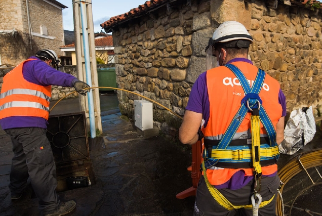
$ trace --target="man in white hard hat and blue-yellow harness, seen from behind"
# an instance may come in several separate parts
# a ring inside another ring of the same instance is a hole
[[[194,215],[275,215],[286,101],[278,81],[247,58],[252,42],[243,24],[222,23],[206,48],[217,64],[192,87],[179,139],[203,142]]]

